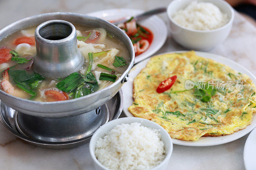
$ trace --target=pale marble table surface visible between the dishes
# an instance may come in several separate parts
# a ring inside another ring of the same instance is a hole
[[[136,8],[148,10],[167,6],[170,0],[9,0],[0,1],[0,29],[8,24],[35,14],[46,12],[76,12],[85,14],[110,8]],[[166,14],[161,18],[167,23]],[[235,13],[231,33],[226,41],[211,53],[228,57],[256,75],[256,28],[240,14]],[[168,36],[164,46],[156,53],[184,50]],[[121,115],[124,117],[124,114]],[[248,134],[227,144],[208,147],[190,147],[174,144],[168,169],[244,169],[243,150]],[[0,124],[0,169],[94,169],[89,144],[65,150],[39,148],[25,143]]]

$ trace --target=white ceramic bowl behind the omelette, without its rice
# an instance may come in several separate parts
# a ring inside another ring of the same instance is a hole
[[[228,15],[229,21],[226,25],[217,29],[193,30],[179,25],[172,19],[176,11],[184,9],[192,1],[195,0],[173,0],[168,5],[167,15],[170,21],[172,37],[176,42],[188,49],[207,51],[228,37],[234,20],[234,10],[224,0],[197,0],[198,2],[211,2],[216,5],[220,8],[220,11]]]

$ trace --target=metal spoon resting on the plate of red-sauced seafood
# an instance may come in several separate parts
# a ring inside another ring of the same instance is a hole
[[[150,10],[150,11],[147,11],[147,12],[144,12],[142,14],[139,14],[139,15],[136,15],[134,16],[134,20],[135,21],[139,21],[139,20],[142,20],[142,19],[146,19],[152,15],[155,15],[155,14],[158,14],[158,13],[162,13],[162,12],[165,12],[166,11],[166,8],[156,8],[154,10]],[[113,22],[112,24],[114,25],[117,25],[117,24],[120,24],[120,23],[125,23],[127,21],[129,21],[131,19],[132,16],[129,16],[129,17],[125,17],[124,19],[122,20],[119,20],[119,21],[116,21],[116,22]]]

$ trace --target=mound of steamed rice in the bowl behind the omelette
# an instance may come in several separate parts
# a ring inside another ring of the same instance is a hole
[[[173,20],[194,30],[212,30],[228,23],[228,15],[209,2],[192,1],[185,9],[177,11]]]

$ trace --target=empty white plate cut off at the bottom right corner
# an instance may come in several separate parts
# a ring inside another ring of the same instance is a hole
[[[252,130],[244,144],[244,166],[246,170],[255,170],[256,128]]]

